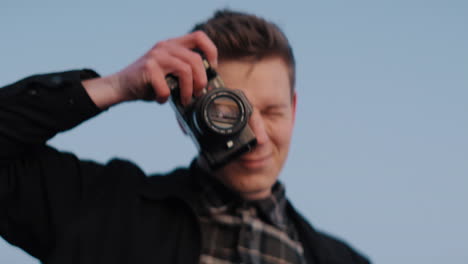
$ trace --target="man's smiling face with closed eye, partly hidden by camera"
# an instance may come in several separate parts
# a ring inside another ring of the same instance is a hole
[[[280,58],[222,61],[216,69],[226,86],[242,90],[253,106],[249,121],[257,146],[213,174],[247,199],[271,193],[286,161],[296,111],[288,67]]]

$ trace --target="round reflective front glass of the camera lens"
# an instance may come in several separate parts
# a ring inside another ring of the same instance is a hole
[[[219,129],[232,129],[240,119],[239,105],[233,98],[220,96],[207,107],[210,123]]]

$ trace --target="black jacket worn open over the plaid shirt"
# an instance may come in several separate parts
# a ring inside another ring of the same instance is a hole
[[[49,264],[198,263],[196,170],[148,177],[127,161],[101,165],[46,146],[100,112],[81,85],[95,76],[38,75],[0,89],[0,235]],[[308,263],[368,263],[288,211]]]

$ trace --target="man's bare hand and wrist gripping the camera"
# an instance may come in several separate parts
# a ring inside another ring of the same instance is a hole
[[[120,72],[83,82],[91,99],[100,108],[131,100],[167,101],[170,90],[165,76],[179,79],[181,103],[190,102],[207,84],[199,49],[213,67],[217,66],[217,49],[201,31],[157,43],[145,55]]]

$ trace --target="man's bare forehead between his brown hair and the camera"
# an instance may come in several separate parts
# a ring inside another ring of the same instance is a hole
[[[290,102],[288,67],[280,58],[221,61],[217,71],[228,88],[242,90],[254,105]]]

